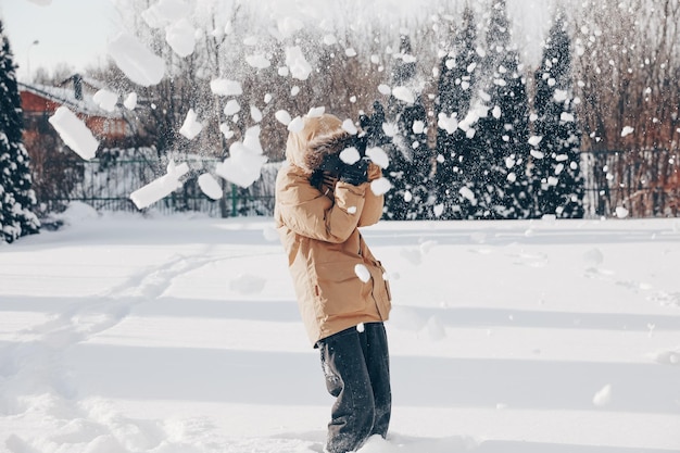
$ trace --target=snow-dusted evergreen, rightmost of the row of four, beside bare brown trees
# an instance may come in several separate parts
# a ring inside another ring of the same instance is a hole
[[[532,216],[555,214],[580,218],[583,216],[581,134],[574,109],[570,40],[562,12],[550,30],[542,64],[536,73],[534,109]]]

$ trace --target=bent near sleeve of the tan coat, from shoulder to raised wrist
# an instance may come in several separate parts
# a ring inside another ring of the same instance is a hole
[[[306,176],[289,172],[277,178],[277,216],[298,235],[344,242],[358,225],[367,189],[367,184],[355,187],[338,183],[333,203]]]

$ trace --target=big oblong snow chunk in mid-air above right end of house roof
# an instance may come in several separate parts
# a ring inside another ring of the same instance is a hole
[[[165,74],[163,59],[147,49],[137,38],[118,34],[108,47],[116,66],[135,84],[142,87],[156,85]]]

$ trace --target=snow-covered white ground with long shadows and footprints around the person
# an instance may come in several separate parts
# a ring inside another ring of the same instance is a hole
[[[320,451],[270,218],[98,216],[0,247],[0,452]],[[393,418],[362,453],[680,451],[680,221],[388,223]]]

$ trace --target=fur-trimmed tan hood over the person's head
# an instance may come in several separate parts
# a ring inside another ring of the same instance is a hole
[[[342,151],[350,134],[335,115],[304,116],[302,129],[288,135],[286,159],[292,165],[312,175],[328,154]]]

